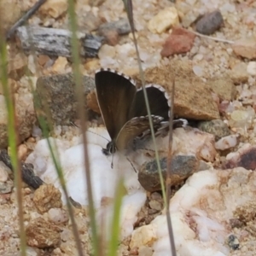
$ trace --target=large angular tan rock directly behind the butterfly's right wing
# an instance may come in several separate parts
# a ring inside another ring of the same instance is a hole
[[[139,75],[135,77],[138,83]],[[172,61],[169,66],[145,71],[147,84],[161,84],[169,94],[175,79],[174,114],[186,119],[219,119],[218,106],[209,86],[193,73],[189,61]]]

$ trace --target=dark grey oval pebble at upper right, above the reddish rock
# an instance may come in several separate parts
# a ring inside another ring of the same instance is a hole
[[[217,31],[223,24],[224,20],[219,10],[215,10],[210,14],[204,15],[197,21],[195,28],[197,32],[204,35],[211,35]]]

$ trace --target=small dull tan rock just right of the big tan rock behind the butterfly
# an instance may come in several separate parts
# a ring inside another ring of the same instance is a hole
[[[211,90],[215,92],[221,100],[232,101],[236,97],[236,86],[232,80],[225,76],[222,78],[213,78],[207,81]]]

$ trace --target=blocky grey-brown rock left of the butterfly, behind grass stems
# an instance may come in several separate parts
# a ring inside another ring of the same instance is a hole
[[[95,83],[94,79],[88,76],[83,77],[82,83],[86,109],[85,96],[95,89]],[[54,125],[70,125],[70,122],[78,119],[78,101],[72,73],[38,78],[36,93],[38,97],[35,97],[34,101],[38,118],[47,118],[49,124]]]

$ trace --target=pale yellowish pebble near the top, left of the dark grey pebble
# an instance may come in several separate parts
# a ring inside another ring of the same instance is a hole
[[[153,33],[165,32],[171,26],[178,25],[177,9],[174,7],[161,10],[148,22],[148,30]]]

